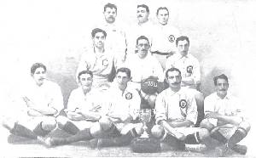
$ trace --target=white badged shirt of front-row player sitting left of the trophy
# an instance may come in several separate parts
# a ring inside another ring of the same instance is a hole
[[[108,91],[106,91],[105,99],[107,105],[104,111],[107,116],[118,114],[121,116],[130,115],[133,119],[137,118],[141,98],[134,88],[127,86],[123,92],[116,83],[113,83]]]

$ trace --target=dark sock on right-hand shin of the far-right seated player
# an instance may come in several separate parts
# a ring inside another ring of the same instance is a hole
[[[228,140],[228,147],[232,149],[235,144],[241,141],[242,138],[245,138],[247,136],[247,131],[243,128],[238,128],[236,132],[231,136],[231,138]]]

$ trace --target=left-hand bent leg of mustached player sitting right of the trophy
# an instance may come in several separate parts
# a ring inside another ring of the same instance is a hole
[[[185,150],[185,144],[183,141],[178,140],[177,138],[173,137],[171,134],[167,133],[163,127],[159,125],[155,125],[151,129],[151,134],[154,138],[159,138],[163,143],[169,144],[170,146],[174,147],[175,150]]]

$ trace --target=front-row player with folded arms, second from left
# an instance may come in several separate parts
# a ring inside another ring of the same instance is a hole
[[[70,144],[73,142],[90,140],[93,135],[90,131],[96,121],[102,117],[101,99],[102,93],[98,89],[92,89],[93,75],[91,71],[79,72],[79,87],[70,94],[67,103],[67,116],[58,116],[58,127],[67,133],[72,134],[67,138],[47,138],[48,146]]]

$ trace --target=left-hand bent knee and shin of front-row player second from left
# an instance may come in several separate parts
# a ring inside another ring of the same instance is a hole
[[[70,121],[66,116],[58,116],[56,118],[58,122],[58,127],[69,134],[76,134],[79,132],[79,127],[77,127],[73,121]]]

